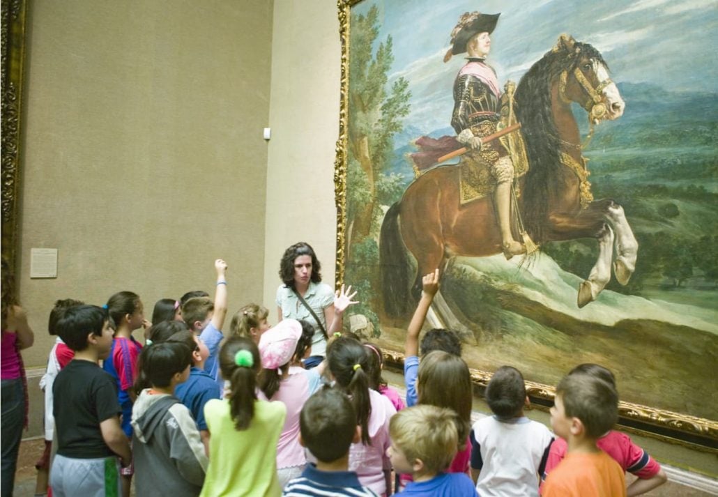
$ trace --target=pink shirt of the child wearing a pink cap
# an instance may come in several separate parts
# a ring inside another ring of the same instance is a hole
[[[269,400],[261,390],[257,391],[260,400]],[[304,447],[299,445],[299,413],[304,402],[309,399],[309,380],[303,368],[290,367],[289,377],[279,382],[279,390],[271,400],[281,401],[286,406],[286,419],[276,445],[276,468],[292,468],[307,463]]]

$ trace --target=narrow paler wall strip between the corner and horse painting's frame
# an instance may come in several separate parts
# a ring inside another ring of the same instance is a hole
[[[264,235],[264,305],[276,322],[279,260],[307,241],[334,284],[339,21],[335,0],[275,0]]]

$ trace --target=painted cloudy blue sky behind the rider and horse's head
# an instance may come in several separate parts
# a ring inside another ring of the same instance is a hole
[[[409,80],[411,114],[423,132],[449,126],[454,76],[462,57],[442,62],[449,34],[465,11],[501,13],[488,62],[503,85],[521,75],[568,33],[596,47],[616,83],[718,93],[718,0],[364,0],[353,13],[380,7],[379,41],[393,37],[390,81]]]

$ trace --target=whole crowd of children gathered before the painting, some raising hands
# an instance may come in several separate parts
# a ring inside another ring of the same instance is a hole
[[[615,378],[601,366],[561,380],[553,433],[524,415],[523,376],[510,366],[485,390],[493,415],[472,425],[457,334],[419,341],[438,270],[424,277],[407,330],[406,404],[381,376],[381,348],[353,333],[332,329],[319,361],[316,325],[284,317],[271,328],[252,304],[225,335],[225,262],[215,271],[214,299],[162,299],[153,322],[132,292],[103,307],[57,301],[38,463],[53,496],[129,496],[133,475],[137,496],[173,497],[635,496],[666,480],[612,431]],[[638,476],[628,488],[627,470]]]

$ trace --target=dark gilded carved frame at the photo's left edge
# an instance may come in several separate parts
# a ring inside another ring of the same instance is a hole
[[[15,265],[22,169],[25,0],[2,0],[2,255]]]

